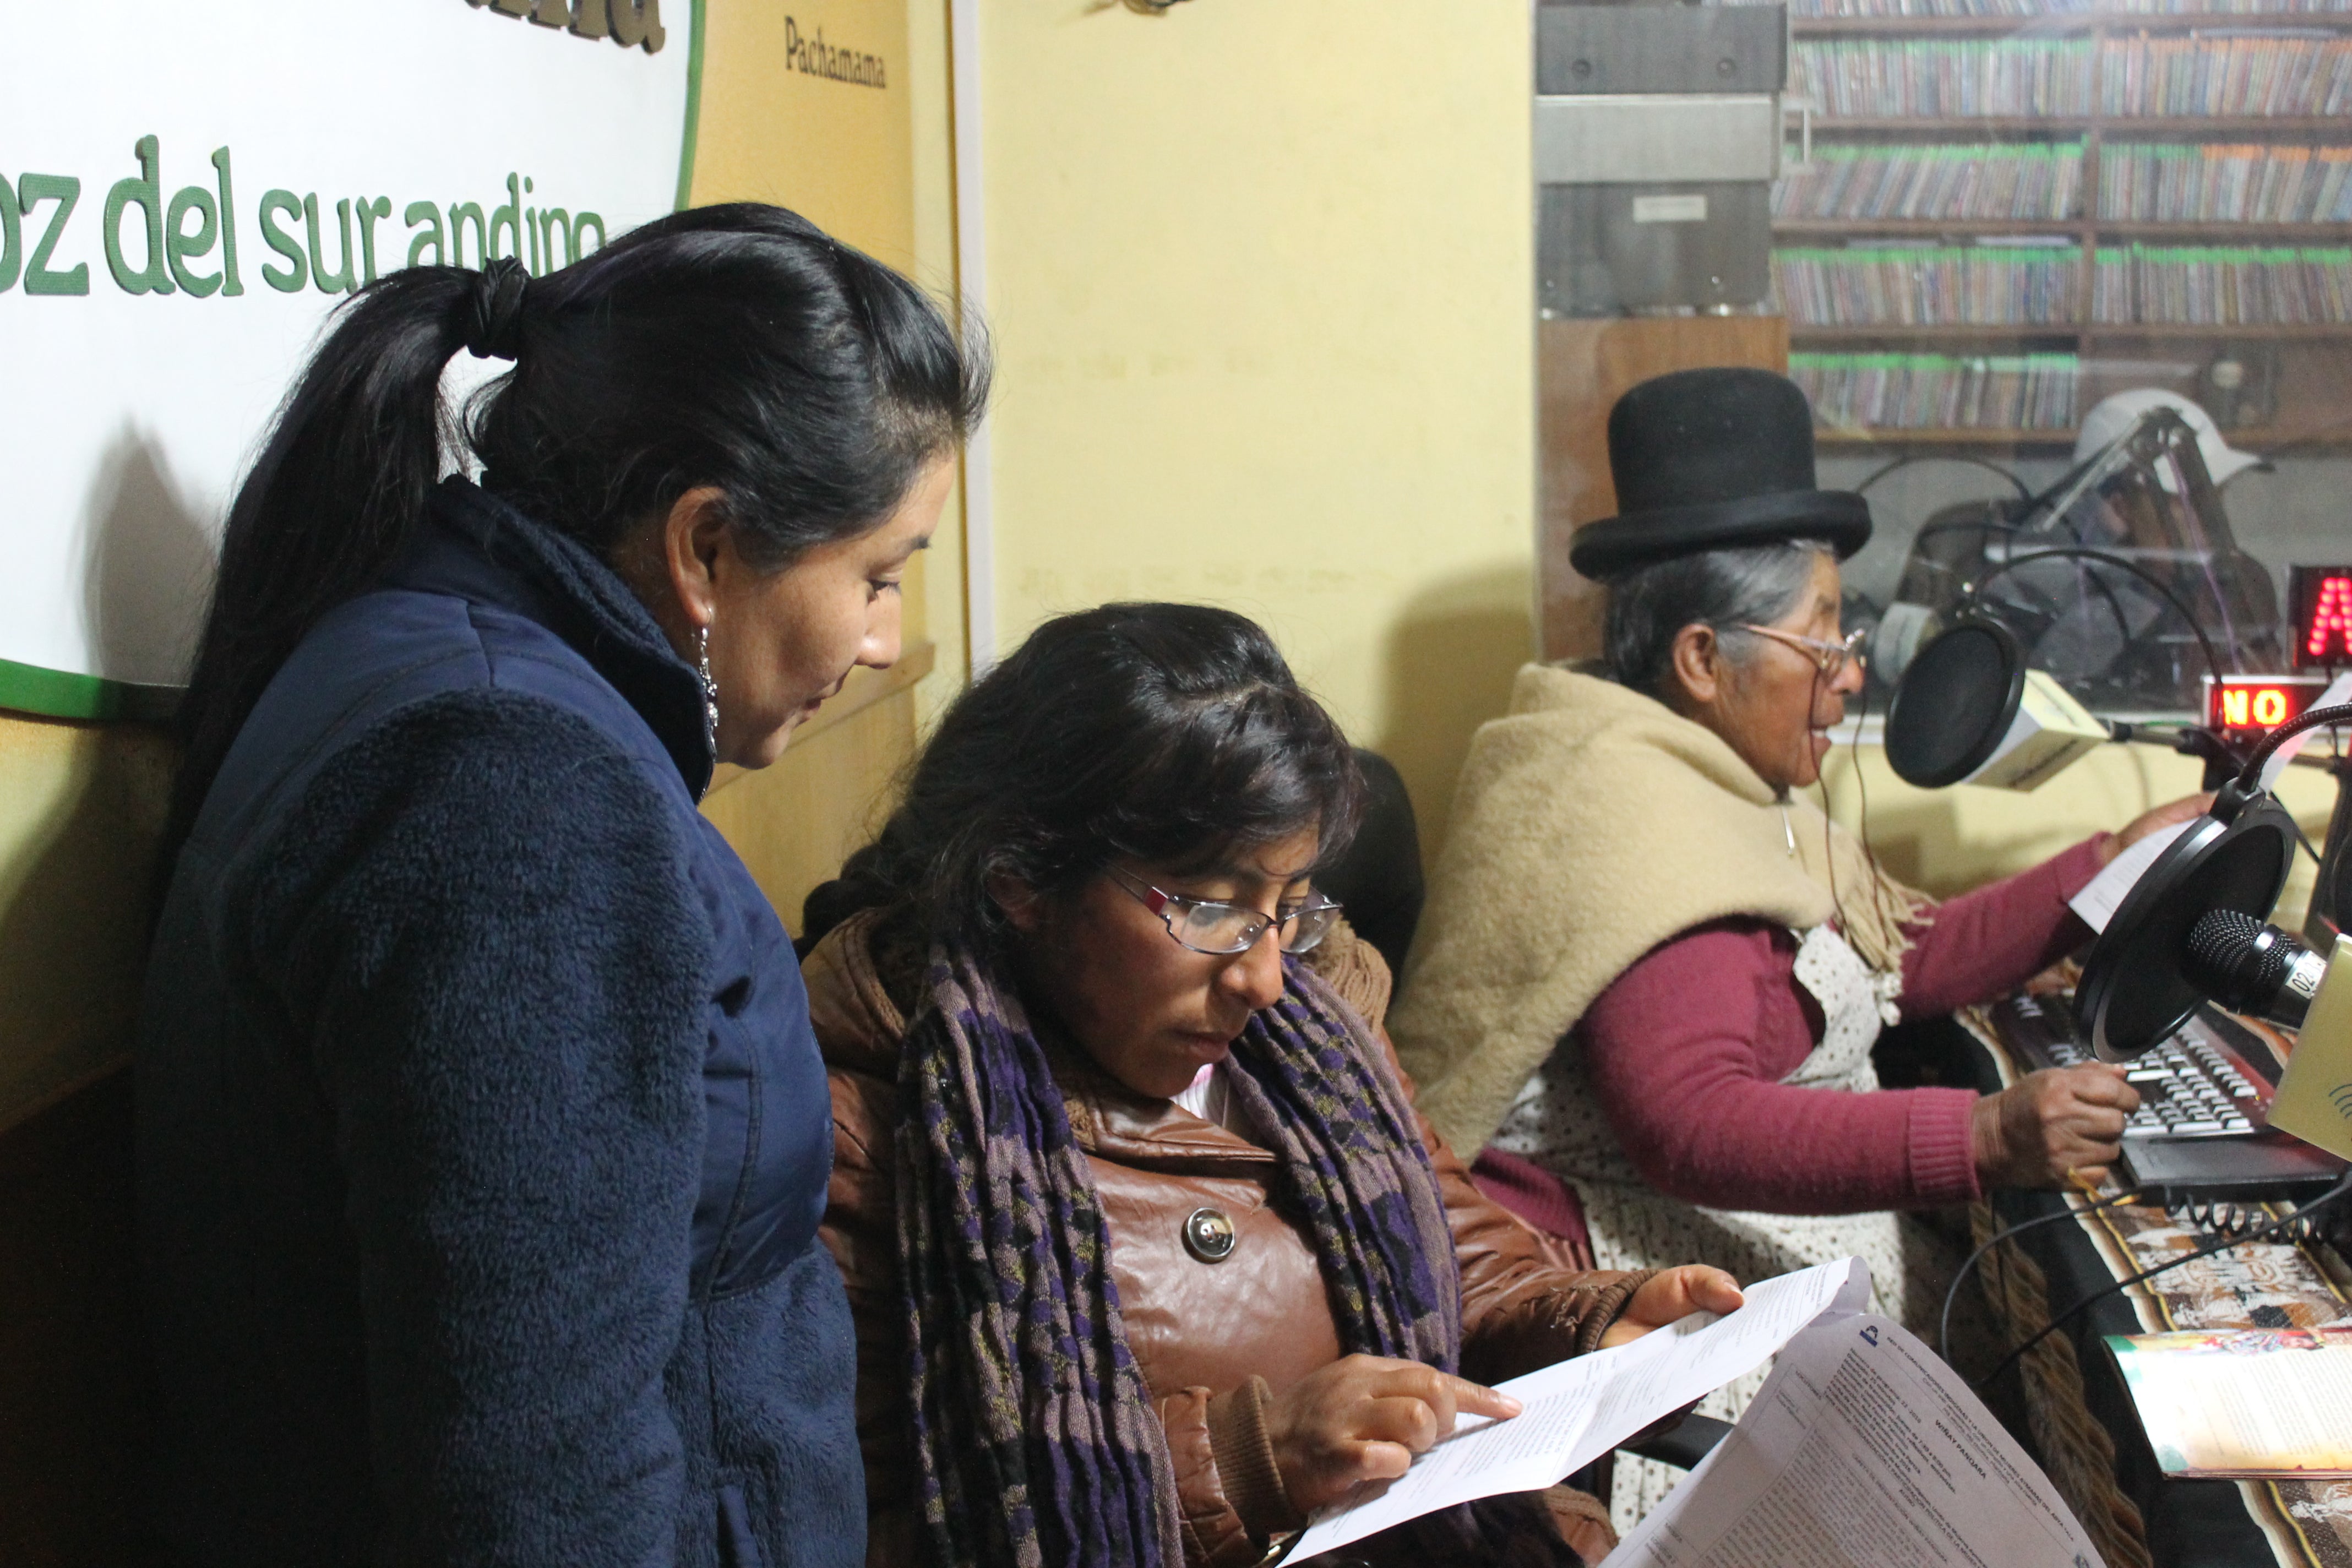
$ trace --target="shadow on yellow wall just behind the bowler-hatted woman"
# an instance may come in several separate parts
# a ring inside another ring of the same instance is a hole
[[[1503,717],[1512,675],[1536,656],[1531,604],[1534,567],[1491,567],[1414,595],[1388,635],[1388,705],[1374,750],[1404,776],[1430,865],[1444,849],[1472,731]]]

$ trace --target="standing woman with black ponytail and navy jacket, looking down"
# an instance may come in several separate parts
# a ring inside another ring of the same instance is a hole
[[[174,1561],[863,1559],[823,1063],[696,802],[896,658],[983,388],[774,207],[343,308],[230,508],[141,1016]]]

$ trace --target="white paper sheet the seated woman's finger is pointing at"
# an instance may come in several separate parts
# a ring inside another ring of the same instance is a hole
[[[1870,1269],[1860,1258],[1844,1258],[1748,1286],[1745,1295],[1729,1316],[1698,1312],[1630,1345],[1498,1385],[1524,1406],[1519,1415],[1463,1418],[1454,1436],[1414,1460],[1385,1493],[1315,1521],[1289,1556],[1336,1552],[1456,1502],[1552,1486],[1642,1427],[1762,1366],[1825,1312],[1844,1319],[1867,1307]]]

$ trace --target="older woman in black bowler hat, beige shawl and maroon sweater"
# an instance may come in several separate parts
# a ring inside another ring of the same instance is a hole
[[[1611,411],[1609,458],[1623,515],[1573,548],[1609,585],[1606,656],[1522,670],[1472,743],[1399,1053],[1437,1128],[1484,1147],[1489,1190],[1552,1229],[1581,1206],[1602,1265],[1759,1279],[1860,1253],[1922,1324],[1945,1248],[1893,1211],[2096,1173],[2138,1095],[2103,1065],[1987,1098],[1882,1091],[1879,1027],[2086,940],[2065,900],[2199,802],[1931,905],[1792,797],[1863,686],[1837,562],[1870,538],[1860,496],[1813,487],[1804,395],[1755,369],[1661,376]],[[1740,1387],[1700,1408],[1736,1413]],[[1628,1509],[1642,1474],[1618,1467]]]

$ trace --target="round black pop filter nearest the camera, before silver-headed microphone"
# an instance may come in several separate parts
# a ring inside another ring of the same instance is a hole
[[[2286,889],[2293,818],[2267,795],[2234,816],[2225,816],[2227,802],[2223,790],[2213,811],[2140,872],[2084,959],[2074,1023],[2103,1063],[2164,1044],[2206,999],[2187,978],[2190,933],[2206,914],[2234,910],[2260,922]]]

